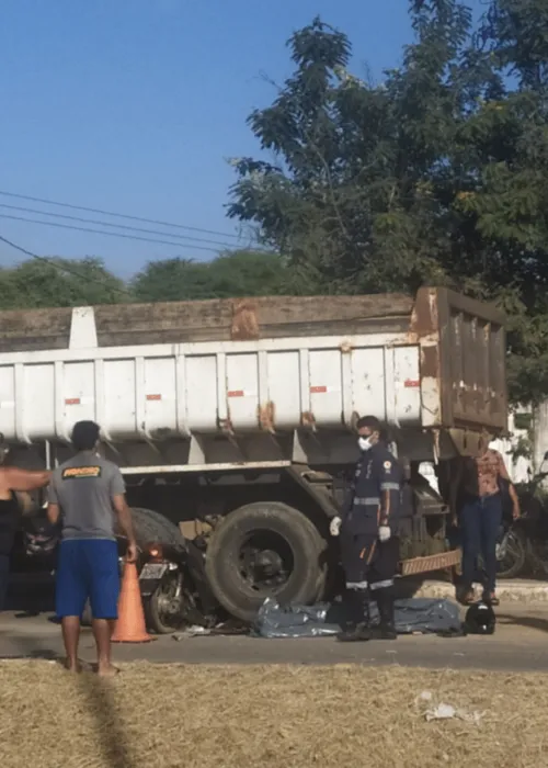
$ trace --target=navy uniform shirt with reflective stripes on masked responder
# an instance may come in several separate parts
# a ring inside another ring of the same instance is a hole
[[[381,443],[362,454],[354,482],[342,510],[343,527],[350,533],[377,534],[380,526],[392,531],[400,517],[402,471]]]

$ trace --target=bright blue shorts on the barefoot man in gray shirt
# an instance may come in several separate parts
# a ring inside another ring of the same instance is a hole
[[[118,546],[106,539],[66,539],[59,546],[55,608],[59,619],[81,617],[88,599],[94,619],[117,619]]]

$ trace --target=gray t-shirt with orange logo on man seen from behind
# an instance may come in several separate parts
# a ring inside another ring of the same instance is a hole
[[[64,539],[114,540],[113,497],[124,493],[116,464],[84,451],[55,470],[48,501],[60,507]]]

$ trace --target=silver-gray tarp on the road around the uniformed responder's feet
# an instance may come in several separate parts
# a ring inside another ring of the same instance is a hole
[[[373,622],[378,621],[377,606],[370,605]],[[253,634],[260,637],[327,637],[341,631],[344,623],[342,603],[287,606],[266,599],[259,609]],[[459,609],[450,600],[409,598],[396,601],[396,629],[399,634],[458,633]]]

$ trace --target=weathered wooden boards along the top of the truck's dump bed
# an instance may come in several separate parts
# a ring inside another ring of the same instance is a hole
[[[373,296],[266,296],[93,307],[98,347],[235,341],[406,330],[413,300]],[[72,309],[0,313],[0,352],[66,349]]]

